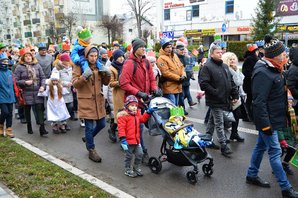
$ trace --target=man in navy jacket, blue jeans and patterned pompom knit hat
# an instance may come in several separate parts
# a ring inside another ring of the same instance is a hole
[[[246,182],[262,187],[270,186],[269,182],[258,177],[264,152],[268,150],[270,165],[282,190],[282,196],[297,198],[298,192],[288,182],[280,162],[282,151],[277,135],[277,129],[291,125],[290,116],[287,114],[287,84],[281,64],[285,55],[285,45],[268,34],[264,40],[265,57],[257,62],[252,72],[254,123],[259,134],[252,152]]]

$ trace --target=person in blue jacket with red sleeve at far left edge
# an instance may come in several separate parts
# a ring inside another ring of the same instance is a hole
[[[18,102],[19,94],[13,72],[8,69],[8,60],[7,54],[0,52],[0,136],[4,135],[6,121],[5,137],[13,138],[13,103]]]

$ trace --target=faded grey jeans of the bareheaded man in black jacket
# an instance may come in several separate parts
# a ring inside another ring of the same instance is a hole
[[[211,112],[206,128],[206,134],[212,136],[215,128],[218,137],[218,142],[226,142],[226,137],[224,136],[223,107],[210,107],[210,109]]]

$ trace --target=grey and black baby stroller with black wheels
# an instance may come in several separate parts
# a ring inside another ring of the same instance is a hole
[[[163,97],[152,98],[147,102],[143,102],[146,109],[149,106],[157,106],[158,110],[154,111],[149,118],[149,134],[162,135],[163,141],[160,148],[161,154],[159,157],[150,157],[149,168],[153,173],[159,173],[162,170],[162,162],[168,161],[178,166],[193,166],[193,171],[188,171],[186,174],[188,182],[195,184],[198,182],[198,163],[209,160],[208,164],[204,164],[202,169],[205,175],[213,174],[213,158],[207,153],[204,147],[184,147],[182,149],[175,149],[175,141],[165,128],[165,123],[170,117],[170,107],[176,108],[171,100]],[[185,124],[183,127],[193,126],[193,124]],[[180,129],[177,129],[178,132]],[[175,131],[175,132],[176,132]],[[167,148],[167,144],[169,144]]]

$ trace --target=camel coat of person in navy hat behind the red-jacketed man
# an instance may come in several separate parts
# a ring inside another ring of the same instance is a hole
[[[124,102],[123,102],[124,91],[119,87],[118,70],[113,66],[110,66],[109,70],[111,71],[111,81],[109,83],[109,86],[112,88],[114,113],[116,113],[117,115],[118,110],[123,109],[123,106],[124,106]],[[117,116],[115,116],[114,122],[116,124],[118,123]]]

